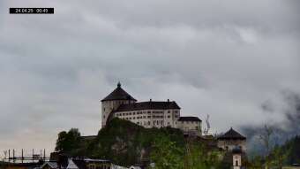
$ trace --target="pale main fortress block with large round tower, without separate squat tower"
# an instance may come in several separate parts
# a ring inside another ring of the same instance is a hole
[[[110,119],[119,118],[146,128],[175,127],[200,135],[201,120],[197,117],[180,117],[180,109],[175,101],[169,99],[165,102],[151,99],[137,102],[118,83],[117,88],[101,100],[101,127],[105,127]]]

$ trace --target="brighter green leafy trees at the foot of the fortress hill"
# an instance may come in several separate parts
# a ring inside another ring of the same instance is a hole
[[[164,135],[157,136],[151,153],[156,169],[216,169],[221,167],[221,158],[220,151],[209,150],[200,142],[186,142],[182,147]]]

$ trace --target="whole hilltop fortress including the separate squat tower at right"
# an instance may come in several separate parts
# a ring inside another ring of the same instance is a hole
[[[138,102],[121,88],[121,83],[118,82],[116,89],[101,100],[101,127],[105,127],[111,119],[119,118],[146,128],[179,128],[185,135],[197,135],[207,140],[209,135],[202,135],[202,120],[198,117],[180,116],[180,110],[179,105],[169,99]],[[245,152],[246,137],[230,128],[225,134],[216,137],[216,144],[221,150],[232,152],[238,149]]]

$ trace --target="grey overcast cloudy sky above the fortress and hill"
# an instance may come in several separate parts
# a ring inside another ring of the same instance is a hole
[[[96,134],[100,100],[117,81],[139,101],[169,98],[181,115],[209,114],[217,132],[283,124],[282,92],[300,92],[299,8],[298,0],[2,0],[0,154],[53,150],[71,127]]]

